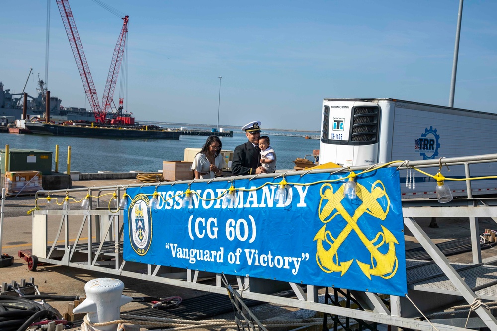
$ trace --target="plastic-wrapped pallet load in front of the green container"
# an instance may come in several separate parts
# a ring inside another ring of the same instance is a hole
[[[39,190],[43,190],[40,171],[7,171],[5,173],[6,195],[33,195]]]

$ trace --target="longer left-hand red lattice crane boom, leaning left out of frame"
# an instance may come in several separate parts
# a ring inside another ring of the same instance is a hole
[[[81,44],[80,35],[76,29],[73,13],[71,11],[71,7],[69,6],[69,0],[57,0],[57,5],[59,7],[62,22],[66,28],[71,49],[73,50],[76,66],[78,66],[78,71],[80,72],[84,92],[86,93],[86,97],[91,105],[91,110],[93,110],[93,114],[95,115],[95,121],[105,123],[106,114],[100,109],[100,104],[98,103],[95,84],[93,83],[93,78],[91,77],[88,62],[84,56],[83,45]]]

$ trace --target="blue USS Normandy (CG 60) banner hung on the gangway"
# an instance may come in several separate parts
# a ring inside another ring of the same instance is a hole
[[[128,188],[124,260],[403,296],[399,172],[347,175]]]

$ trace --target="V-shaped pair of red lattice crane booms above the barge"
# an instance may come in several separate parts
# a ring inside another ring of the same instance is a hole
[[[124,20],[121,33],[117,40],[116,47],[114,49],[114,55],[110,63],[109,74],[107,76],[107,83],[105,84],[104,95],[102,99],[103,109],[100,108],[98,103],[98,96],[95,89],[95,84],[93,83],[93,78],[91,77],[90,69],[86,57],[84,56],[83,45],[81,43],[80,36],[78,34],[78,29],[76,28],[76,23],[74,21],[73,13],[71,7],[69,6],[69,0],[57,0],[57,5],[59,7],[59,12],[61,14],[62,22],[66,28],[67,37],[69,39],[69,44],[73,50],[74,59],[76,60],[76,66],[80,72],[81,81],[83,82],[84,92],[90,103],[93,114],[95,115],[95,122],[97,123],[107,123],[106,120],[107,110],[110,107],[112,98],[114,96],[114,90],[116,87],[117,76],[119,74],[119,69],[121,67],[121,62],[124,55],[124,48],[126,44],[126,35],[128,33],[128,19],[129,16],[122,18]]]

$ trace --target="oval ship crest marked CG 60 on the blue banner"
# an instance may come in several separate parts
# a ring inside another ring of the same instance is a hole
[[[128,209],[130,242],[133,251],[145,255],[152,243],[152,214],[148,208],[149,198],[137,195]]]

